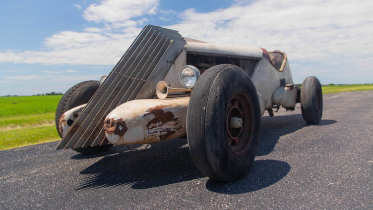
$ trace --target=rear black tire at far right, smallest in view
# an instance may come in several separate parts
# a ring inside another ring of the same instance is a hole
[[[323,92],[316,77],[304,79],[300,90],[302,117],[308,124],[318,124],[323,116]]]

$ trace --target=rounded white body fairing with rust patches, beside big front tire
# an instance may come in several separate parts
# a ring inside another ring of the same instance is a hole
[[[121,104],[107,115],[110,143],[144,144],[186,135],[189,97],[139,99]]]

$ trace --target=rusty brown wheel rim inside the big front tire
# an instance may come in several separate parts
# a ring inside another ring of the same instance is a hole
[[[232,126],[232,118],[239,118],[242,125],[236,128]],[[232,96],[228,103],[225,118],[227,142],[233,153],[243,154],[250,147],[253,139],[253,129],[255,125],[253,106],[244,92],[238,92]]]

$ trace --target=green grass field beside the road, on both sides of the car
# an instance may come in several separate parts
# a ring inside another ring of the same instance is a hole
[[[373,90],[373,84],[323,85],[323,94]],[[0,97],[0,150],[60,139],[54,112],[61,95]]]

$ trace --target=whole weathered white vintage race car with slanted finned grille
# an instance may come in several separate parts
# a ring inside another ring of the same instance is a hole
[[[207,43],[148,25],[108,76],[60,99],[56,149],[95,153],[187,137],[197,168],[231,181],[253,164],[265,111],[292,111],[297,102],[307,123],[319,123],[319,80],[294,85],[282,51]]]

